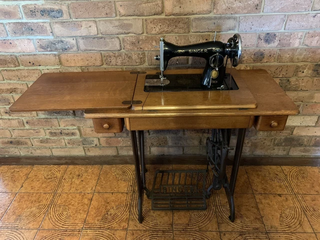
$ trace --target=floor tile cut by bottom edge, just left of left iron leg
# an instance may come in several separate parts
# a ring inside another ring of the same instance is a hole
[[[83,230],[80,240],[124,240],[125,230]]]

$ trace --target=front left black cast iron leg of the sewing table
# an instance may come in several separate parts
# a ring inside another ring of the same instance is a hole
[[[142,182],[141,182],[138,146],[137,146],[137,142],[136,142],[136,133],[135,133],[135,131],[130,131],[130,133],[131,133],[131,142],[132,142],[134,166],[135,166],[135,178],[136,178],[136,184],[137,184],[137,188],[138,188],[138,221],[139,221],[139,223],[142,223],[142,220],[143,220],[143,216],[142,216],[143,186],[142,186]]]

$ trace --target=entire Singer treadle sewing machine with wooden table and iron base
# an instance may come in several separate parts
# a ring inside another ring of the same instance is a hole
[[[138,193],[132,213],[141,224],[142,209],[150,211],[142,208],[143,192],[151,198],[152,209],[205,209],[206,201],[213,204],[211,189],[222,186],[233,221],[233,193],[246,128],[283,130],[288,115],[297,114],[298,109],[265,70],[231,70],[241,57],[239,34],[226,43],[213,40],[188,46],[161,39],[159,49],[160,72],[44,73],[10,110],[85,110],[98,133],[121,132],[125,123],[131,135]],[[200,56],[207,62],[204,70],[165,70],[175,56]],[[227,59],[231,60],[230,69],[226,69]],[[237,129],[237,141],[227,177],[232,128]],[[207,169],[149,170],[146,176],[144,131],[165,129],[212,129],[206,140],[206,163],[214,177],[208,184]],[[153,184],[150,176],[154,176]],[[209,211],[201,215],[203,219],[212,216]]]

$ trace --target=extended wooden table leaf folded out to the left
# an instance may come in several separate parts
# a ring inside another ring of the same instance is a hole
[[[137,74],[130,71],[42,74],[11,106],[11,111],[129,108]]]

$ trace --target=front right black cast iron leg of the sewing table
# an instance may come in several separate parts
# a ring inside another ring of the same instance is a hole
[[[239,128],[238,129],[238,137],[236,140],[236,146],[235,146],[235,152],[234,152],[234,157],[233,157],[229,187],[224,188],[226,197],[229,202],[229,208],[230,208],[229,219],[232,222],[234,221],[234,214],[235,214],[233,193],[234,193],[236,177],[237,177],[238,170],[239,170],[239,163],[240,163],[240,158],[241,158],[241,153],[242,153],[242,148],[243,148],[245,130],[246,130],[246,128]]]

